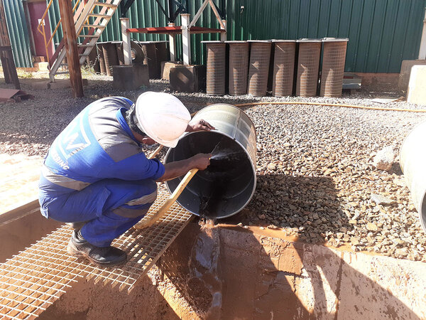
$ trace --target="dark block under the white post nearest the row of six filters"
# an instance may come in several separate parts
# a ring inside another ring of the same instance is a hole
[[[170,69],[170,89],[200,92],[206,87],[205,65],[180,65]]]

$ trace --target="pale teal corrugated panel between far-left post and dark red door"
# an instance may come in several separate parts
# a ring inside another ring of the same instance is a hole
[[[3,4],[16,68],[31,68],[33,59],[22,2],[21,0],[4,0]]]

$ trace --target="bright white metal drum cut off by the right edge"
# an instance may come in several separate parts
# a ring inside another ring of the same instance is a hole
[[[420,223],[426,232],[426,122],[411,130],[400,149],[400,166],[411,198],[420,215]]]

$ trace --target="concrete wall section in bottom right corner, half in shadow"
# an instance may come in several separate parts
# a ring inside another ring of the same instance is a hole
[[[337,319],[426,319],[426,264],[345,252]]]

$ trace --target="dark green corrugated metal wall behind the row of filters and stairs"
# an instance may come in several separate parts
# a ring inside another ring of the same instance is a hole
[[[194,16],[203,0],[187,1],[190,14]],[[359,73],[399,73],[402,60],[417,58],[426,6],[426,0],[214,1],[219,7],[224,1],[226,6],[229,40],[349,38],[346,71]],[[166,1],[160,2],[167,11]],[[55,10],[56,13],[50,15],[52,23],[59,17],[58,7]],[[121,40],[119,15],[118,10],[100,41]],[[136,0],[127,16],[131,18],[132,28],[167,25],[155,0]],[[219,28],[219,23],[207,7],[197,26]],[[136,33],[133,38],[140,41],[167,39],[165,35]],[[210,39],[219,39],[219,35],[192,35],[194,63],[205,63],[200,41]],[[55,42],[58,43],[58,40],[55,39]],[[177,49],[180,58],[180,36]]]

